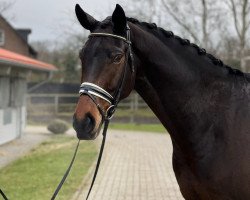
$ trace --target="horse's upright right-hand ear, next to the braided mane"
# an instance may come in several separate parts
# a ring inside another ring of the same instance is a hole
[[[119,4],[116,4],[116,8],[112,14],[112,22],[114,24],[115,33],[125,33],[127,26],[127,18],[123,8]]]

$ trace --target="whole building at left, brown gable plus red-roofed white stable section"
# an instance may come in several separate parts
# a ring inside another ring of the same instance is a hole
[[[36,74],[45,82],[57,70],[35,59],[37,52],[28,44],[30,32],[14,29],[0,15],[0,144],[22,135],[29,77]]]

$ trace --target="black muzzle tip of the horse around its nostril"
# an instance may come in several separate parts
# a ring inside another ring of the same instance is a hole
[[[90,138],[90,134],[95,128],[95,119],[90,113],[87,113],[81,120],[78,120],[74,115],[73,127],[76,130],[79,139]]]

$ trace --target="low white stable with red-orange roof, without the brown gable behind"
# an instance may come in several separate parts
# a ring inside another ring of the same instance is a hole
[[[56,67],[0,48],[0,144],[21,137],[26,124],[27,79]]]

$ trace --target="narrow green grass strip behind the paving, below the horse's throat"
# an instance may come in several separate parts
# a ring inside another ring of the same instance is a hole
[[[115,130],[128,130],[128,131],[145,131],[166,133],[166,129],[161,124],[132,124],[132,123],[112,123],[110,122],[109,128]]]

